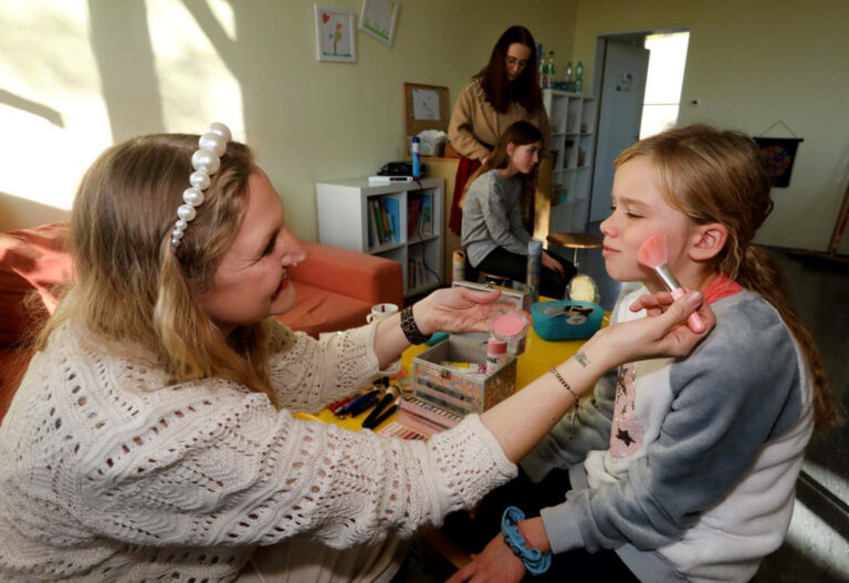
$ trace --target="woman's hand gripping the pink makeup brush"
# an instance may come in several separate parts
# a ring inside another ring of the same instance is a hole
[[[644,308],[649,315],[599,330],[589,340],[597,345],[594,352],[610,361],[610,367],[644,358],[689,355],[716,324],[716,316],[699,292],[689,292],[674,302],[671,299],[667,292],[638,299],[631,308]],[[685,320],[693,311],[702,316],[704,332],[695,333],[688,327]],[[584,350],[588,348],[585,345]]]

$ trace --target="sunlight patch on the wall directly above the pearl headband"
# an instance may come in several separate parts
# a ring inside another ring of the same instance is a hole
[[[212,1],[208,6],[217,20],[198,22],[177,0],[148,0],[146,6],[165,127],[200,133],[211,122],[223,122],[237,139],[243,137],[239,81],[219,54],[233,52],[232,9],[226,2]],[[230,37],[227,44],[213,46],[205,27],[222,29]]]

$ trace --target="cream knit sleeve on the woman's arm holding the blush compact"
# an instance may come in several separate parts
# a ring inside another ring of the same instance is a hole
[[[271,320],[271,385],[281,406],[315,412],[363,388],[380,372],[377,323],[317,341]]]

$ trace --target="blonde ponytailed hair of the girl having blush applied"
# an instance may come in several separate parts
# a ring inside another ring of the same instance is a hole
[[[713,267],[778,310],[813,375],[817,426],[839,425],[842,415],[817,345],[793,309],[780,270],[764,249],[752,243],[773,209],[772,180],[757,144],[740,132],[695,124],[633,144],[614,166],[638,156],[651,160],[667,202],[698,225],[719,222],[727,228],[727,241]]]

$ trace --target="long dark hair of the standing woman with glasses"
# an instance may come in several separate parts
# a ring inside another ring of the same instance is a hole
[[[507,81],[507,49],[513,43],[524,44],[531,49],[527,66],[513,81]],[[510,27],[492,48],[490,62],[478,74],[486,101],[496,112],[505,113],[511,103],[518,103],[528,113],[535,113],[543,106],[543,94],[539,91],[538,64],[536,61],[536,43],[534,37],[524,27]]]

